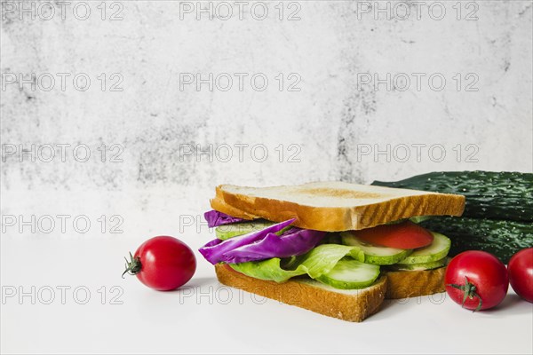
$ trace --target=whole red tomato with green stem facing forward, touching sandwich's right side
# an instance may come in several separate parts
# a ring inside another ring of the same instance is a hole
[[[455,256],[444,275],[446,292],[451,299],[473,311],[497,306],[509,288],[507,269],[496,256],[469,250]]]

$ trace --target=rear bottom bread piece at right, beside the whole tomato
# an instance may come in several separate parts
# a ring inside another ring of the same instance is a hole
[[[408,298],[444,292],[446,266],[423,271],[383,271],[388,280],[386,298]]]

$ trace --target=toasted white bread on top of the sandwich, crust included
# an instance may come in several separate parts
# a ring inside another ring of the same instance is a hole
[[[293,225],[325,232],[370,228],[415,216],[460,216],[465,209],[462,195],[340,181],[260,188],[219,185],[211,207],[220,208],[221,201],[247,215],[274,222],[296,218]]]

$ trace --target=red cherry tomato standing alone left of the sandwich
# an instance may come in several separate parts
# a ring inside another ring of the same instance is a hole
[[[193,250],[183,241],[159,236],[142,243],[131,260],[126,259],[126,271],[159,291],[179,288],[191,280],[196,271]]]

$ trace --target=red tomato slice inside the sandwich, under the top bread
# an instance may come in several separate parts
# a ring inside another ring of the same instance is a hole
[[[426,229],[411,221],[394,225],[378,225],[372,228],[352,231],[354,235],[375,245],[388,248],[415,249],[427,247],[434,236]]]

